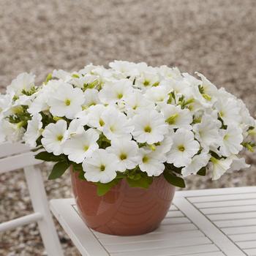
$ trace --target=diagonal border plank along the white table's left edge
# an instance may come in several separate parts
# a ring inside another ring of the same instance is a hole
[[[108,256],[108,252],[72,207],[74,200],[72,204],[66,202],[68,200],[50,200],[50,209],[80,253],[86,256]]]

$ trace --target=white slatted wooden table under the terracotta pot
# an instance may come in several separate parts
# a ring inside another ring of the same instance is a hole
[[[89,229],[74,199],[50,201],[81,255],[256,255],[256,187],[176,192],[162,225],[143,236],[110,236]]]

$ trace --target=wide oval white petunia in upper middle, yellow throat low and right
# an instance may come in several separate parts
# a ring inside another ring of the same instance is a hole
[[[110,104],[120,102],[132,93],[132,82],[127,79],[109,83],[99,91],[99,99],[102,103]]]

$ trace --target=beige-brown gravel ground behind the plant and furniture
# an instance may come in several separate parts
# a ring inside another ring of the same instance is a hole
[[[254,0],[0,0],[0,90],[20,72],[38,81],[52,69],[80,69],[113,59],[167,64],[203,72],[241,97],[256,113],[256,1]],[[248,170],[187,180],[188,189],[256,184]],[[70,197],[69,176],[47,181],[49,198]],[[0,176],[0,222],[31,212],[23,173]],[[58,225],[65,255],[79,255]],[[36,225],[0,235],[0,255],[45,255]]]

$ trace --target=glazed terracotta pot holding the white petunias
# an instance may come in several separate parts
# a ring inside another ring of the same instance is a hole
[[[71,171],[72,189],[87,226],[101,233],[118,236],[141,235],[155,230],[165,218],[175,187],[163,176],[155,177],[148,189],[129,187],[121,180],[99,197],[97,187]]]

